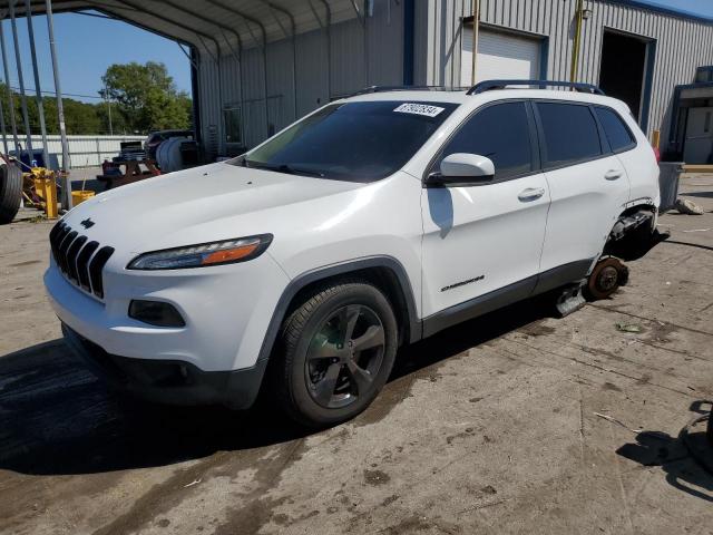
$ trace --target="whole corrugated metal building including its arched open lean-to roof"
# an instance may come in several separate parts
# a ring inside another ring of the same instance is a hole
[[[577,1],[479,0],[476,78],[569,79]],[[41,12],[42,6],[32,2],[32,10]],[[207,158],[254,146],[367,86],[470,85],[473,0],[53,0],[53,6],[100,10],[188,43]],[[584,0],[583,16],[578,81],[627,101],[647,133],[662,130],[664,152],[682,153],[690,108],[674,101],[674,91],[694,81],[697,67],[713,65],[713,20],[637,0]],[[711,107],[713,98],[695,103]]]

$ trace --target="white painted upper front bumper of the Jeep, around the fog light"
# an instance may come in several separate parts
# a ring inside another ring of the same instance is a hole
[[[116,256],[116,255],[115,255]],[[267,254],[209,269],[104,271],[104,301],[71,284],[53,261],[45,274],[47,295],[62,323],[107,353],[133,359],[188,362],[206,372],[255,366],[280,294],[289,282]],[[174,305],[180,328],[129,318],[134,299]]]

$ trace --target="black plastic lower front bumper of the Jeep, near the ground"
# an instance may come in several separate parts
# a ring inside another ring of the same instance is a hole
[[[232,371],[203,371],[191,362],[119,357],[62,323],[69,348],[100,379],[134,397],[167,405],[225,405],[250,408],[263,380],[267,359]]]

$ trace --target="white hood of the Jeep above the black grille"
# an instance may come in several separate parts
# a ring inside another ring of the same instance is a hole
[[[281,206],[362,186],[219,163],[110,189],[78,205],[65,221],[89,240],[145,252],[270,232],[268,222],[248,214],[274,218]],[[87,218],[94,225],[84,230],[80,222]],[[256,220],[261,228],[254,227]]]

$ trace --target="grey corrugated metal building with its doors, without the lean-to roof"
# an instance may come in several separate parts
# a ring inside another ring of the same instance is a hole
[[[481,0],[476,79],[568,79],[576,4]],[[470,85],[471,0],[375,0],[351,12],[349,8],[329,31],[300,33],[294,45],[289,39],[268,42],[266,78],[262,50],[246,50],[242,96],[236,60],[223,59],[219,81],[216,62],[202,61],[198,93],[209,152],[235,152],[226,143],[231,125],[242,125],[232,138],[250,147],[315,107],[367,86]],[[682,152],[672,137],[674,90],[693,81],[697,67],[713,65],[713,21],[631,1],[589,0],[585,10],[578,81],[602,85],[626,100],[647,133],[662,130],[664,152]],[[325,13],[313,16],[325,20]],[[296,76],[291,76],[293,54]],[[228,109],[236,120],[228,119]]]

